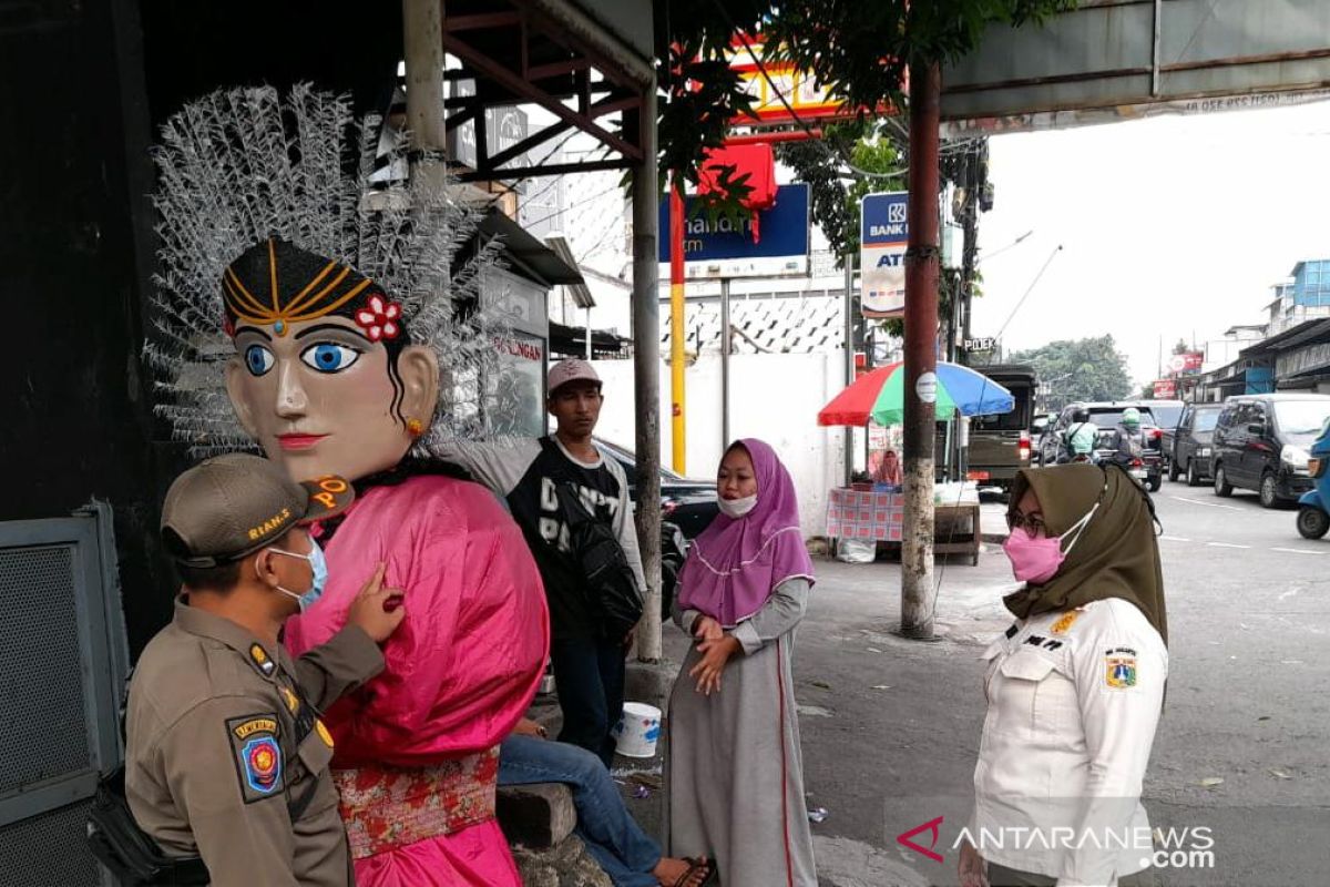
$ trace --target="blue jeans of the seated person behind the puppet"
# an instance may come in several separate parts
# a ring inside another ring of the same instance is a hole
[[[605,765],[565,742],[511,735],[499,746],[499,785],[563,782],[577,807],[576,834],[614,887],[657,887],[661,848],[633,821]]]

